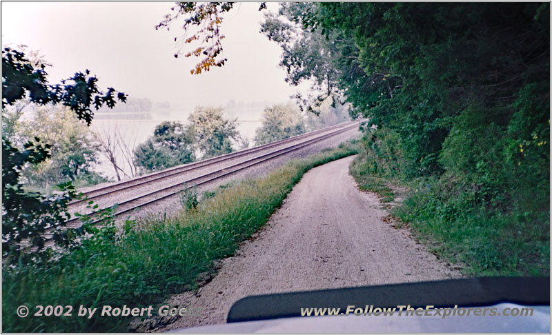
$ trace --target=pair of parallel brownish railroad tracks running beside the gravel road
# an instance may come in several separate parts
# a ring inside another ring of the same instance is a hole
[[[153,174],[148,174],[147,176],[141,176],[139,178],[130,179],[128,181],[123,181],[112,185],[107,185],[105,187],[99,187],[97,189],[84,192],[83,194],[86,197],[84,199],[73,201],[72,203],[70,203],[69,210],[71,211],[77,205],[81,203],[86,203],[92,199],[101,199],[102,197],[106,197],[106,196],[114,196],[118,192],[132,190],[135,187],[142,187],[146,184],[158,183],[159,181],[170,180],[170,179],[178,180],[168,185],[162,185],[161,187],[158,187],[155,190],[152,190],[152,192],[144,192],[143,194],[140,194],[138,196],[132,196],[130,199],[125,199],[124,201],[117,203],[117,212],[115,212],[114,215],[121,216],[123,214],[127,214],[134,210],[138,210],[139,208],[142,208],[144,206],[150,205],[152,203],[156,203],[158,201],[167,199],[171,196],[175,196],[179,192],[189,189],[191,187],[210,183],[211,181],[221,179],[230,174],[234,174],[235,172],[245,170],[248,167],[252,167],[254,165],[269,161],[270,159],[274,159],[275,157],[282,156],[284,154],[288,154],[289,152],[293,152],[296,150],[300,150],[302,148],[307,147],[308,145],[312,145],[319,141],[323,141],[324,139],[328,139],[331,136],[342,134],[343,132],[346,132],[355,127],[358,127],[358,125],[359,123],[357,121],[341,123],[333,127],[323,128],[322,130],[316,130],[314,132],[308,132],[306,134],[290,137],[288,139],[284,139],[281,141],[269,143],[266,145],[260,145],[255,148],[240,150],[238,152],[233,152],[230,154],[213,157],[211,159],[206,159],[204,161],[199,161],[188,165],[179,165],[178,167],[172,167],[168,170],[155,172]],[[296,141],[299,141],[299,143],[294,143]],[[292,144],[289,144],[289,143],[292,143]],[[282,146],[282,148],[279,148],[280,146]],[[274,148],[274,150],[270,150],[270,148]],[[266,150],[269,150],[269,151],[265,152]],[[256,153],[259,153],[259,152],[260,154],[255,155]],[[255,156],[247,158],[243,161],[238,161],[237,163],[233,163],[231,165],[219,168],[217,170],[210,171],[205,174],[200,174],[199,176],[188,178],[184,181],[181,179],[177,179],[177,177],[181,174],[189,173],[189,172],[192,172],[193,170],[203,169],[204,167],[215,165],[222,161],[230,161],[232,159],[236,159],[237,157],[242,157],[246,155],[255,155]],[[184,185],[186,185],[186,187]],[[87,214],[93,215],[97,212],[99,212],[99,210],[92,211]],[[99,223],[100,221],[101,221],[100,219],[96,221],[92,221],[92,224]],[[78,227],[81,224],[80,219],[78,217],[72,218],[66,221],[66,223],[67,223],[66,225],[67,227]]]

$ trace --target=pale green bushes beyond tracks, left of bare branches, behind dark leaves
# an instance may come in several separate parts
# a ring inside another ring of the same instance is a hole
[[[22,119],[26,112],[26,119]],[[50,157],[21,171],[27,190],[51,193],[55,185],[72,181],[75,187],[94,185],[107,179],[92,170],[97,163],[99,145],[90,129],[69,108],[59,105],[36,105],[19,101],[2,114],[3,136],[23,148],[24,143],[39,137],[50,143]]]

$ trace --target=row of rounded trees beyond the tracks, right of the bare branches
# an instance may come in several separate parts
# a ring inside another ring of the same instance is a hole
[[[326,106],[323,116],[306,115],[296,106],[275,104],[264,109],[262,126],[255,133],[255,145],[286,139],[348,119],[339,117]],[[150,138],[134,151],[134,161],[141,173],[164,170],[248,148],[249,139],[237,131],[237,119],[226,119],[222,108],[197,107],[188,124],[165,121],[155,127]]]

